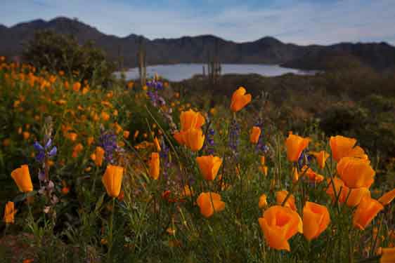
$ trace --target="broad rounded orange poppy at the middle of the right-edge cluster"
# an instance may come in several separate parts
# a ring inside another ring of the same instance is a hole
[[[337,173],[349,188],[370,187],[375,181],[375,170],[366,159],[344,157],[337,163]]]

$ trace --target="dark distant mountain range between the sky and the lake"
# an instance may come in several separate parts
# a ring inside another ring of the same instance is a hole
[[[32,39],[37,30],[44,29],[72,34],[81,43],[93,41],[105,50],[110,59],[119,60],[122,57],[124,67],[136,67],[136,53],[141,39],[145,43],[148,65],[205,63],[209,53],[216,53],[222,63],[264,63],[299,69],[325,69],[326,62],[331,58],[350,57],[375,69],[395,67],[395,47],[384,42],[298,46],[269,36],[257,41],[235,43],[212,35],[150,40],[136,34],[126,37],[103,34],[79,20],[63,17],[48,22],[22,22],[13,27],[0,25],[0,55],[20,55],[22,43]]]

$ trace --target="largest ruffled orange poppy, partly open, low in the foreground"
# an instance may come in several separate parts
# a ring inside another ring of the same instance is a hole
[[[303,231],[299,215],[280,205],[265,210],[263,217],[259,218],[259,225],[268,245],[276,250],[290,251],[288,240]]]

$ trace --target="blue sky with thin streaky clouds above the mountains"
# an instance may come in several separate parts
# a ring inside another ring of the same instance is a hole
[[[79,18],[105,34],[149,39],[215,34],[298,44],[395,44],[395,0],[1,0],[0,24]]]

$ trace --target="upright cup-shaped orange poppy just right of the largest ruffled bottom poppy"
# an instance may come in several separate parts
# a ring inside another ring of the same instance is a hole
[[[306,202],[303,208],[303,234],[308,241],[320,236],[329,222],[328,208],[317,203]]]

